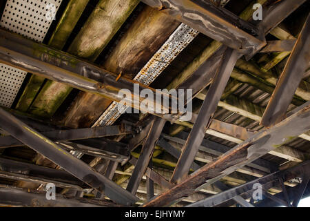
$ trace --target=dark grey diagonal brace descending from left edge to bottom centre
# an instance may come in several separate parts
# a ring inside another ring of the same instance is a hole
[[[90,166],[77,159],[60,146],[54,144],[47,137],[30,128],[19,119],[0,108],[0,125],[4,131],[23,142],[34,151],[61,166],[65,171],[71,173],[86,184],[104,193],[110,199],[120,204],[130,205],[138,201],[134,195],[125,191],[112,180],[107,179],[100,173],[94,171]]]

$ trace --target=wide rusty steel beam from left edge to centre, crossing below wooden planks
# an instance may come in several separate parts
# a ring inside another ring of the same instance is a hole
[[[177,97],[166,93],[158,94],[155,89],[137,81],[125,77],[118,79],[118,75],[98,66],[1,29],[0,62],[115,102],[122,101],[127,106],[152,114],[158,113],[158,110],[161,110],[161,113],[171,113],[171,105],[169,107],[163,105],[163,99],[167,99],[168,104],[178,100]],[[153,96],[147,98],[140,96],[140,91],[143,89],[151,90]],[[144,104],[140,105],[142,102]],[[147,102],[152,105],[145,107]],[[177,116],[177,113],[158,115],[171,120],[172,115]]]

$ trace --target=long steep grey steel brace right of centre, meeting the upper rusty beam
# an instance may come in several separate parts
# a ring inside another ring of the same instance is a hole
[[[218,106],[220,96],[223,94],[231,71],[239,57],[240,54],[235,50],[225,50],[218,73],[208,90],[197,120],[191,133],[189,134],[189,137],[187,138],[185,146],[182,149],[182,154],[178,159],[176,169],[174,169],[174,175],[172,175],[171,182],[180,182],[180,180],[187,176],[190,166],[192,165],[194,157],[198,151],[198,147],[203,141],[205,131],[209,128],[211,118],[216,111],[216,106]]]

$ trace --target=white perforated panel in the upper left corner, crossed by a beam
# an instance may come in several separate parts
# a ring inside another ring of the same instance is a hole
[[[62,0],[7,0],[0,20],[6,28],[42,42]],[[0,64],[0,105],[10,107],[27,72]]]

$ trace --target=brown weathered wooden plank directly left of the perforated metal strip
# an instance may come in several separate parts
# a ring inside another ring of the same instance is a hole
[[[133,79],[179,24],[145,6],[103,62],[103,68]],[[63,117],[64,124],[72,128],[93,126],[110,104],[111,99],[79,93]]]

